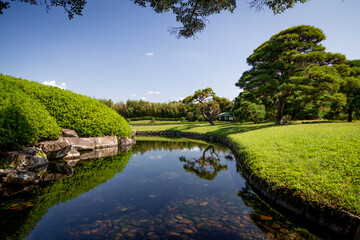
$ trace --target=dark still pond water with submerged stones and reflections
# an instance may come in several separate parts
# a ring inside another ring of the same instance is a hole
[[[0,239],[313,239],[263,204],[226,148],[138,139],[0,202]]]

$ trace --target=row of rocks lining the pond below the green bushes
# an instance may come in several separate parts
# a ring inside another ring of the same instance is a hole
[[[40,142],[21,151],[0,152],[8,166],[0,169],[0,195],[12,195],[41,181],[67,178],[80,160],[116,156],[135,144],[132,138],[116,136],[80,138],[74,130],[62,129],[56,141]]]

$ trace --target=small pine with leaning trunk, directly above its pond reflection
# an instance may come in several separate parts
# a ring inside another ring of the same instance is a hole
[[[214,125],[216,116],[220,113],[219,103],[214,101],[215,93],[211,88],[197,90],[193,95],[186,97],[183,103],[194,104],[201,110],[206,121]]]

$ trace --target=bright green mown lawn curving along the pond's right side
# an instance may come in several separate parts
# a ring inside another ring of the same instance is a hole
[[[220,123],[138,126],[228,138],[258,176],[276,187],[360,215],[360,122],[275,126]]]

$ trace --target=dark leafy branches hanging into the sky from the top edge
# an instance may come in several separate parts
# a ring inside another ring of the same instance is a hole
[[[33,5],[50,7],[63,7],[72,19],[74,15],[82,15],[86,0],[11,0]],[[151,7],[156,13],[172,12],[180,27],[170,28],[170,32],[178,37],[190,38],[205,29],[208,17],[223,11],[233,12],[236,0],[131,0],[141,7]],[[310,0],[252,0],[250,6],[256,10],[267,7],[274,14],[282,13],[292,8],[296,3],[305,3]],[[0,14],[10,7],[10,0],[0,0]]]

